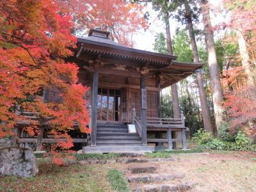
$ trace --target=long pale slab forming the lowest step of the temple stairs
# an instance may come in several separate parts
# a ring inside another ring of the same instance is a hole
[[[83,153],[110,153],[110,152],[152,152],[155,150],[154,146],[142,146],[142,145],[118,145],[118,146],[95,146],[95,147],[83,147]]]

